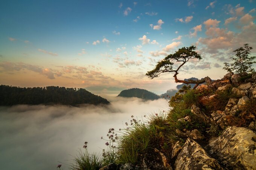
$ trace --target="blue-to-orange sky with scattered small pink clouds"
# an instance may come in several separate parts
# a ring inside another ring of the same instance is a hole
[[[255,55],[255,23],[256,0],[1,0],[0,84],[161,94],[177,84],[145,76],[158,61],[195,45],[178,78],[222,78],[235,49]]]

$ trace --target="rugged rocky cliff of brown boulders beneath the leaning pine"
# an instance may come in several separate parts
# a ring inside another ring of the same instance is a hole
[[[170,119],[175,126],[171,122],[166,125],[176,128],[170,135],[169,150],[160,142],[161,149],[151,152],[157,155],[151,162],[162,165],[157,169],[169,170],[256,170],[256,74],[230,72],[198,86],[195,93],[199,102],[189,106],[189,114],[177,121],[173,116]],[[145,154],[139,164],[116,169],[156,167],[148,162]]]

